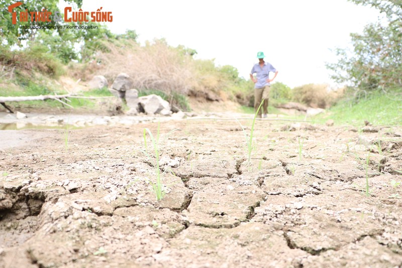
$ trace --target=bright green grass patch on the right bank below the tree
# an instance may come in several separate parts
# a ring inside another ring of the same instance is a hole
[[[364,120],[373,125],[400,125],[402,124],[401,92],[395,96],[374,92],[354,101],[342,101],[333,106],[326,115],[318,115],[315,119],[333,119],[336,124],[362,125]]]

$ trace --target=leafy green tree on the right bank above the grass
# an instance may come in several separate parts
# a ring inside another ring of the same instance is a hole
[[[347,82],[355,93],[401,87],[402,2],[349,0],[378,9],[384,18],[369,24],[362,34],[351,34],[352,49],[336,49],[338,62],[328,63],[337,82]]]

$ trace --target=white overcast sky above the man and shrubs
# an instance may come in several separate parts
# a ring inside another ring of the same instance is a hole
[[[361,33],[379,16],[346,0],[83,0],[84,11],[100,7],[113,12],[107,25],[114,33],[135,30],[142,44],[166,38],[195,49],[197,58],[233,65],[246,78],[263,51],[279,70],[276,80],[290,87],[333,84],[325,68],[335,60],[330,49],[348,46],[349,33]]]

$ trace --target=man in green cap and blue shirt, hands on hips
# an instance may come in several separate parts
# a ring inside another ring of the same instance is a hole
[[[259,59],[259,63],[254,64],[253,68],[250,72],[250,78],[255,83],[254,85],[254,110],[257,112],[258,107],[261,104],[261,101],[265,99],[262,104],[262,109],[258,111],[257,117],[261,118],[261,110],[264,110],[264,118],[267,117],[268,114],[268,100],[269,100],[269,82],[272,82],[275,79],[278,71],[268,62],[264,61],[264,53],[258,52],[257,58]],[[274,76],[272,79],[269,79],[269,72],[274,72]],[[254,79],[253,74],[256,73],[257,79]]]

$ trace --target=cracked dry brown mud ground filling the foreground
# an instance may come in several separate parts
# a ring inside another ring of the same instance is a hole
[[[0,132],[0,267],[402,264],[401,128],[161,123],[156,202],[144,127]]]

